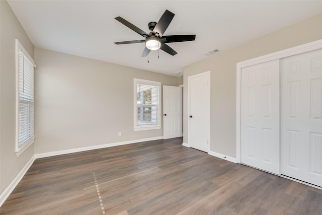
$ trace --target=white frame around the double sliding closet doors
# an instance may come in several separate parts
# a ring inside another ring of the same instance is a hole
[[[296,54],[301,54],[308,51],[313,51],[320,48],[322,48],[322,39],[237,63],[236,65],[237,67],[236,68],[236,163],[240,164],[241,162],[241,150],[240,150],[241,149],[241,68],[271,61],[271,60],[284,58],[284,57],[289,57]]]

